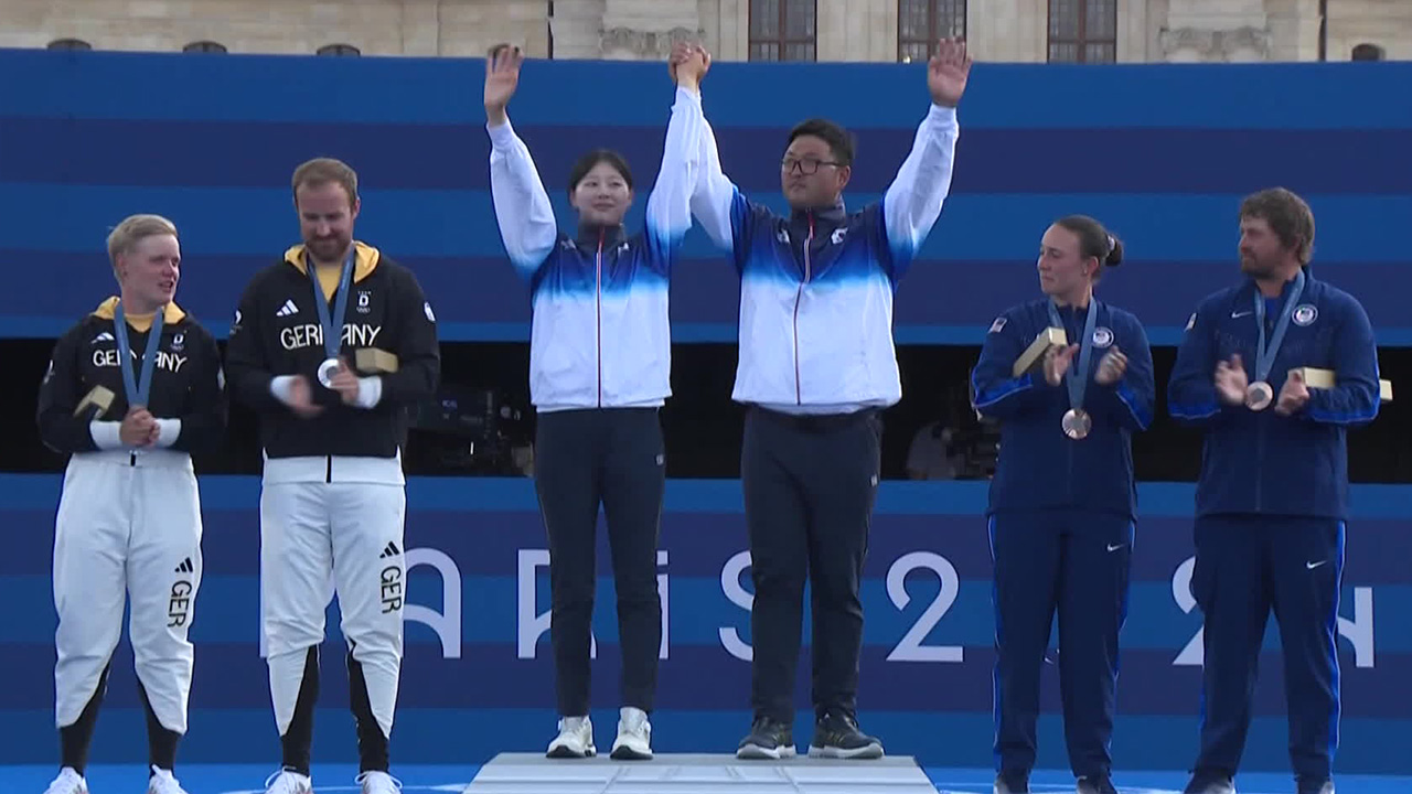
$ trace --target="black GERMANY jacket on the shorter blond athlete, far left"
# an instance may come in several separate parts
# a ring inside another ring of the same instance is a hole
[[[55,452],[126,449],[117,438],[117,425],[128,410],[113,328],[117,302],[116,297],[103,301],[54,345],[40,384],[37,420],[41,441]],[[150,331],[131,325],[128,366],[137,379]],[[175,302],[165,307],[161,333],[145,405],[161,425],[155,446],[186,454],[216,449],[226,429],[216,339]],[[86,404],[79,411],[96,387],[110,391],[112,403],[106,410]]]

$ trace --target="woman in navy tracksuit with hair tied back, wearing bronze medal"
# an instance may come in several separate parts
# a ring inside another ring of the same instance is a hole
[[[1121,260],[1123,243],[1097,220],[1055,222],[1039,251],[1045,297],[995,319],[971,373],[976,410],[1001,421],[987,510],[997,794],[1028,791],[1056,609],[1069,763],[1079,794],[1114,791],[1108,745],[1137,502],[1131,434],[1151,422],[1155,393],[1142,325],[1093,295],[1101,268]],[[1017,377],[1017,359],[1046,328],[1063,328],[1069,343]]]

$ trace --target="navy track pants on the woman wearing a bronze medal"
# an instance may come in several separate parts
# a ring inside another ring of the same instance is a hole
[[[1059,691],[1075,776],[1113,766],[1118,633],[1128,612],[1134,524],[1082,510],[994,513],[995,766],[1035,766],[1039,672],[1059,615]]]

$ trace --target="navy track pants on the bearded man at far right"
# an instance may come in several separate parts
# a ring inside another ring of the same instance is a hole
[[[1197,769],[1236,774],[1250,730],[1265,624],[1274,609],[1285,663],[1289,757],[1326,780],[1339,743],[1339,589],[1344,524],[1305,516],[1196,520],[1192,595],[1204,616]]]

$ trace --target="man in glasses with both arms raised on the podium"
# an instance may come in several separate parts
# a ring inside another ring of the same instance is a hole
[[[692,213],[740,273],[740,366],[733,398],[750,407],[741,452],[755,588],[751,706],[737,756],[795,754],[794,682],[803,586],[813,602],[810,754],[880,757],[857,723],[863,605],[858,581],[880,473],[878,413],[902,394],[892,291],[942,211],[956,150],[956,105],[970,59],[945,41],[928,65],[932,106],[882,201],[849,213],[847,133],[796,126],[779,168],[791,213],[754,203],[705,155]]]

